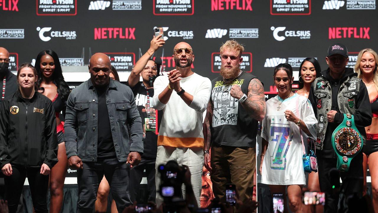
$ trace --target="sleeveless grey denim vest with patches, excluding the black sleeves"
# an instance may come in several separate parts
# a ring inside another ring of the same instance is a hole
[[[356,99],[359,92],[361,79],[352,76],[348,77],[341,85],[337,94],[337,102],[340,113],[355,114]],[[316,149],[323,149],[325,131],[327,130],[327,113],[332,108],[332,85],[322,76],[315,79],[313,84],[316,97],[316,111],[318,114],[318,133]]]

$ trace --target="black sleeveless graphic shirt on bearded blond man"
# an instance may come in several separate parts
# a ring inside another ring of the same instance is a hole
[[[257,77],[243,71],[229,84],[223,81],[222,76],[211,81],[211,146],[256,147],[258,121],[248,115],[238,99],[230,95],[233,85],[239,85],[247,95],[253,78]]]

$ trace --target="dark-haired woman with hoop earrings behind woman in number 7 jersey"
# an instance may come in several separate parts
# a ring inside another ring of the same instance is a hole
[[[297,94],[308,98],[311,83],[314,82],[315,78],[322,75],[320,73],[321,71],[320,64],[316,58],[305,58],[305,60],[302,61],[301,66],[299,66],[299,90],[297,91]],[[312,144],[312,150],[315,150],[314,142],[311,141],[311,138],[307,138],[307,142],[309,149]],[[320,192],[318,172],[311,172],[308,174],[307,191]],[[309,205],[308,207],[311,208],[311,212],[321,213],[324,211],[323,205],[317,205],[316,207]]]

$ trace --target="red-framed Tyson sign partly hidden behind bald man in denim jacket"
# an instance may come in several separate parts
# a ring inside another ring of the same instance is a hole
[[[135,64],[135,53],[104,53],[109,56],[110,64],[117,71],[132,71]]]

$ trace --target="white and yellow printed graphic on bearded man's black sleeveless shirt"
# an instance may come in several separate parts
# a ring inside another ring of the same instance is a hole
[[[217,81],[212,90],[211,96],[214,102],[212,126],[237,125],[238,99],[230,95],[233,85],[242,86],[244,79],[236,79],[230,84]]]

